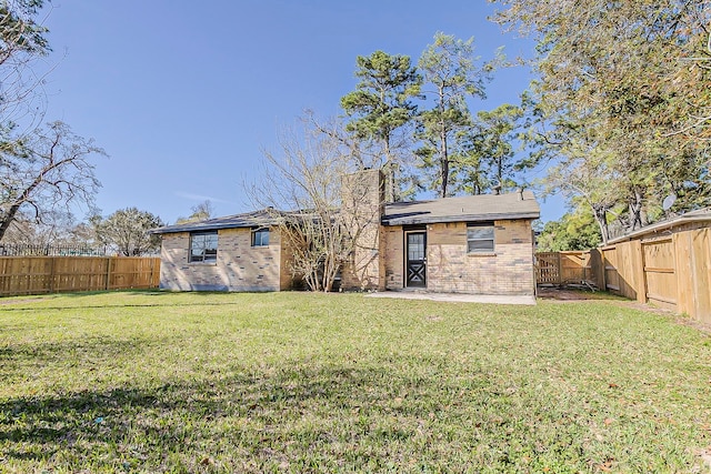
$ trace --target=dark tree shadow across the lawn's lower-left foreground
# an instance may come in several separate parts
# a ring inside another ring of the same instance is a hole
[[[470,389],[488,385],[482,376]],[[461,389],[383,367],[290,366],[149,389],[23,396],[0,402],[0,452],[18,465],[71,453],[70,470],[120,458],[149,471],[191,471],[189,460],[200,460],[204,446],[262,467],[282,455],[351,456],[365,465],[373,455],[392,455],[390,443],[417,437],[444,405],[455,416],[450,394]],[[182,461],[166,465],[166,453]]]

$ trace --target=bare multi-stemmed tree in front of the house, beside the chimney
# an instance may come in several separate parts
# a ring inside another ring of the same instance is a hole
[[[303,121],[299,132],[281,133],[279,153],[264,152],[261,182],[249,185],[248,194],[278,222],[293,275],[312,291],[330,291],[369,219],[379,214],[359,208],[367,201],[359,193],[368,190],[359,180],[347,179],[361,169],[353,143],[342,140],[344,133],[314,123]],[[344,196],[349,212],[343,212]]]

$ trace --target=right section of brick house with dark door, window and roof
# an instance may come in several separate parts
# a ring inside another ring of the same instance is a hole
[[[378,171],[365,171],[373,193]],[[382,204],[380,225],[343,272],[349,289],[535,294],[530,191]],[[367,278],[359,262],[378,254]]]

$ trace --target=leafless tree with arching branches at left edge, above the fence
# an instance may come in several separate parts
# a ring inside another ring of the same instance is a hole
[[[63,122],[49,123],[0,150],[0,241],[20,211],[42,222],[60,206],[92,208],[100,186],[90,161],[93,155],[106,153]]]

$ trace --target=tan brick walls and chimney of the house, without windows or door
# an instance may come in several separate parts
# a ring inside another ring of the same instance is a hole
[[[367,170],[343,180],[344,222],[361,229],[341,273],[344,290],[402,290],[404,230],[383,226],[382,173]],[[447,293],[535,293],[531,220],[494,221],[494,251],[467,252],[467,223],[427,224],[427,290]],[[189,263],[190,233],[162,235],[160,286],[168,290],[280,291],[292,288],[293,252],[278,230],[270,244],[251,246],[250,229],[218,231],[213,263]]]

